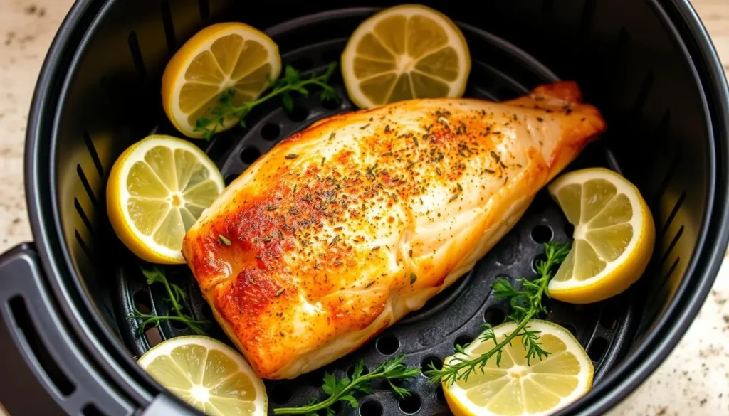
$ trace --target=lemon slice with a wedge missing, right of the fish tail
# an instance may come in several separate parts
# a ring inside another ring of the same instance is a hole
[[[572,251],[550,282],[551,297],[598,302],[635,283],[655,242],[653,217],[638,189],[604,168],[565,173],[548,189],[574,225]]]

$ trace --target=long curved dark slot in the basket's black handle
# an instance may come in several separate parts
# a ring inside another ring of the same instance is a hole
[[[61,367],[55,362],[55,359],[48,353],[48,345],[45,345],[42,338],[38,334],[38,330],[33,323],[31,314],[28,313],[28,307],[26,300],[22,297],[16,296],[10,299],[8,302],[10,306],[10,313],[15,318],[15,324],[17,329],[23,333],[28,346],[33,352],[33,356],[40,364],[43,372],[46,374],[48,379],[55,385],[56,390],[61,393],[61,396],[70,396],[74,393],[76,386],[74,385],[69,377],[63,373]]]

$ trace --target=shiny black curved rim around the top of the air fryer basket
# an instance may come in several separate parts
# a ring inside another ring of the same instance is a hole
[[[78,298],[84,294],[74,293],[77,288],[69,283],[79,281],[79,276],[61,237],[55,192],[48,192],[48,189],[55,190],[54,162],[49,149],[62,102],[58,98],[65,93],[69,75],[84,50],[82,45],[90,39],[94,27],[112,3],[77,0],[50,46],[28,116],[24,168],[26,202],[45,277],[60,305],[60,312],[99,369],[109,380],[114,380],[114,385],[131,401],[144,407],[160,393],[160,387],[141,371],[113,331],[95,314],[94,308],[79,305],[83,302],[78,302]],[[663,17],[690,64],[695,85],[701,90],[707,130],[713,144],[709,147],[708,200],[695,248],[698,255],[690,260],[686,278],[676,296],[647,332],[642,345],[587,395],[559,414],[607,412],[647,380],[693,323],[716,279],[729,242],[729,233],[722,232],[729,229],[729,87],[725,73],[706,28],[688,0],[650,0],[650,4]]]

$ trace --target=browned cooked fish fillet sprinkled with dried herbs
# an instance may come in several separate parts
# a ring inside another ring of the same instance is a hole
[[[235,179],[183,254],[255,372],[297,377],[471,269],[604,129],[572,82],[323,119]]]

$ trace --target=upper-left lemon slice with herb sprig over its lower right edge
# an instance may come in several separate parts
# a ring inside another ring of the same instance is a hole
[[[279,74],[281,56],[273,40],[243,23],[217,23],[192,36],[167,63],[162,105],[177,130],[201,138],[206,128],[222,131],[238,122],[227,116],[222,125],[196,128],[200,119],[217,118],[214,109],[222,94],[232,90],[235,106],[254,101],[268,88],[268,79]]]

